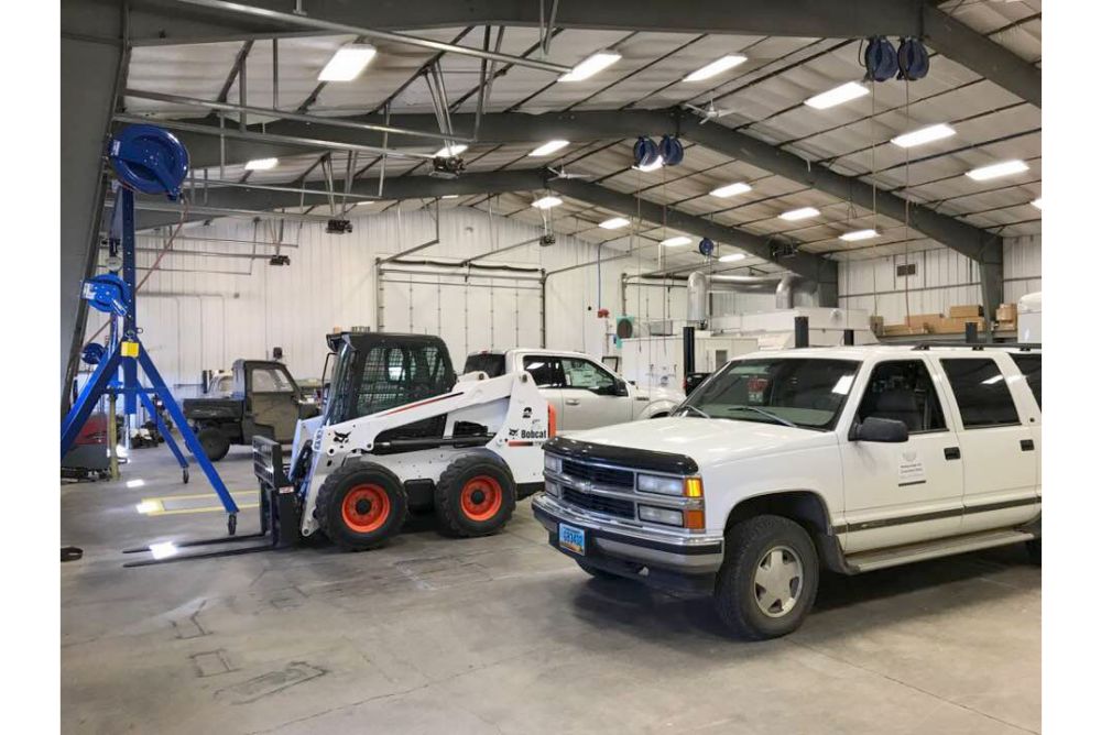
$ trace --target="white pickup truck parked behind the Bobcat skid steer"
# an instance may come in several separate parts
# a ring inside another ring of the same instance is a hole
[[[554,407],[559,432],[668,416],[685,397],[678,391],[632,385],[584,352],[535,349],[473,352],[467,356],[462,372],[481,371],[497,377],[524,370]]]

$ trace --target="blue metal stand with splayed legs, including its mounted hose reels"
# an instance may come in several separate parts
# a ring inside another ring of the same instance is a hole
[[[111,216],[110,232],[111,252],[121,251],[122,277],[120,279],[115,275],[97,276],[85,282],[84,290],[85,298],[92,307],[109,314],[111,343],[73,408],[62,421],[62,457],[72,448],[99,398],[105,392],[113,391],[122,395],[123,412],[134,420],[138,416],[138,403],[141,402],[145,406],[179,463],[184,472],[184,482],[187,482],[187,459],[149,396],[150,393],[155,393],[172,416],[184,445],[203,469],[229,514],[229,533],[233,535],[237,529],[237,503],[226,490],[226,484],[203,451],[198,437],[187,425],[184,412],[181,410],[145,351],[139,336],[141,330],[138,328],[134,188],[148,194],[164,193],[172,199],[178,197],[179,186],[186,174],[187,152],[175,138],[163,130],[134,125],[112,141],[111,162],[116,172],[127,180],[127,185],[116,184],[115,187],[115,210]],[[145,387],[139,381],[139,366],[152,387]],[[120,370],[122,375],[121,380],[118,380]]]

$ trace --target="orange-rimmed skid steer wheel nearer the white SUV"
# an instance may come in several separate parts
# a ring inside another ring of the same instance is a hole
[[[494,454],[464,454],[436,483],[434,505],[440,530],[450,536],[497,533],[516,508],[516,483]]]

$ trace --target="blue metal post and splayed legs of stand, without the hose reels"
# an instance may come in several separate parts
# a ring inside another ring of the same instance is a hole
[[[120,318],[113,314],[110,316],[111,340],[108,347],[108,354],[96,365],[91,379],[84,386],[73,408],[69,409],[68,415],[62,421],[62,457],[73,447],[77,435],[88,420],[99,398],[106,392],[113,391],[122,394],[123,410],[128,416],[137,416],[138,402],[142,402],[156,421],[165,443],[168,445],[168,449],[172,450],[179,467],[186,472],[187,459],[172,438],[172,434],[164,425],[160,413],[153,405],[153,401],[149,397],[149,393],[156,393],[164,403],[168,415],[172,416],[176,428],[179,430],[179,436],[183,438],[184,445],[203,469],[204,474],[206,474],[210,485],[218,494],[218,498],[221,501],[226,512],[230,514],[230,528],[232,529],[236,527],[236,516],[239,512],[237,503],[229,494],[229,491],[226,490],[226,484],[218,475],[218,471],[214,469],[214,464],[207,458],[206,452],[203,451],[203,446],[199,443],[198,437],[195,436],[195,432],[187,425],[184,412],[179,408],[176,399],[172,397],[172,392],[168,391],[168,386],[164,383],[161,373],[157,372],[156,366],[145,351],[145,345],[142,344],[139,337],[138,289],[135,287],[138,268],[134,255],[135,240],[134,194],[129,187],[117,185],[115,189],[115,211],[111,213],[110,245],[112,252],[119,249],[122,252],[122,279],[129,286],[130,292],[128,295],[127,312],[126,316],[121,317],[121,329],[119,329],[120,325],[118,323]],[[124,344],[128,347],[128,351],[133,351],[135,347],[137,356],[123,354]],[[142,386],[139,382],[139,365],[141,365],[142,372],[145,373],[145,377],[152,384],[151,388]],[[120,369],[122,371],[121,381],[118,380]]]

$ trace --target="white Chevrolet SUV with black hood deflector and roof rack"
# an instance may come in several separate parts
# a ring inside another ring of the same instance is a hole
[[[545,446],[536,518],[595,577],[705,591],[744,638],[797,628],[819,570],[1024,541],[1040,555],[1040,352],[757,352],[653,421]]]

